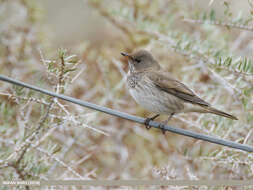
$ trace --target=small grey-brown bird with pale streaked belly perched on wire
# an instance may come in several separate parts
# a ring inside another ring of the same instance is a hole
[[[161,122],[166,125],[178,113],[211,113],[238,120],[235,116],[214,108],[185,84],[174,79],[150,52],[139,50],[132,54],[121,52],[121,55],[128,60],[126,86],[131,96],[143,108],[155,113],[153,117],[145,119],[147,129],[150,128],[149,122],[160,115],[168,115]]]

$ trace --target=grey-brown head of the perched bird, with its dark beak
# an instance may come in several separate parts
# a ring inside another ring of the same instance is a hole
[[[128,58],[130,72],[138,72],[144,70],[159,70],[160,65],[154,57],[146,50],[139,50],[132,54],[121,53]]]

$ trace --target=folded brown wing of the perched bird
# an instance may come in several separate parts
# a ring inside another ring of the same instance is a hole
[[[166,72],[151,71],[147,72],[146,76],[161,90],[172,94],[184,101],[202,106],[210,106],[209,103],[199,98],[192,90],[183,83],[171,78]]]

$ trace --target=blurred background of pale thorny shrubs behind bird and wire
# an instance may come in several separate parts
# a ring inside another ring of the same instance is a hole
[[[253,145],[252,19],[251,0],[0,0],[0,74],[148,117],[126,89],[120,55],[146,49],[174,78],[239,118],[180,114],[171,126]],[[163,135],[2,82],[0,131],[0,180],[253,176],[246,152]]]

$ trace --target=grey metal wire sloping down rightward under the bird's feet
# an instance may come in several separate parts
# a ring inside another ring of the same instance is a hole
[[[72,98],[70,96],[65,96],[65,95],[62,95],[62,94],[56,94],[54,92],[50,92],[48,90],[45,90],[45,89],[30,85],[30,84],[27,84],[27,83],[24,83],[24,82],[20,82],[18,80],[15,80],[15,79],[3,76],[3,75],[0,75],[0,80],[11,83],[11,84],[15,84],[15,85],[18,85],[18,86],[23,86],[25,88],[29,88],[29,89],[41,92],[43,94],[47,94],[49,96],[53,96],[53,97],[56,97],[56,98],[59,98],[59,99],[62,99],[62,100],[68,101],[68,102],[72,102],[74,104],[78,104],[78,105],[86,107],[86,108],[97,110],[99,112],[104,112],[106,114],[113,115],[113,116],[116,116],[116,117],[120,117],[120,118],[123,118],[123,119],[126,119],[126,120],[130,120],[130,121],[137,122],[137,123],[140,123],[140,124],[144,124],[144,122],[145,122],[145,118],[142,118],[142,117],[133,116],[133,115],[130,115],[130,114],[127,114],[127,113],[124,113],[124,112],[120,112],[120,111],[113,110],[113,109],[103,107],[103,106],[99,106],[99,105],[96,105],[96,104],[93,104],[93,103],[90,103],[90,102],[86,102],[86,101],[82,101],[82,100],[79,100],[79,99],[76,99],[76,98]],[[230,148],[244,150],[244,151],[247,151],[247,152],[253,152],[253,147],[249,146],[249,145],[239,144],[239,143],[235,143],[235,142],[232,142],[232,141],[223,140],[223,139],[220,139],[220,138],[217,138],[217,137],[212,137],[212,136],[208,136],[208,135],[203,135],[203,134],[191,132],[191,131],[188,131],[188,130],[185,130],[185,129],[174,128],[174,127],[171,127],[169,125],[163,125],[163,124],[161,124],[159,122],[156,122],[156,121],[150,121],[149,125],[151,127],[161,129],[161,130],[164,130],[164,131],[170,131],[172,133],[176,133],[176,134],[179,134],[179,135],[184,135],[184,136],[192,137],[192,138],[195,138],[195,139],[200,139],[200,140],[203,140],[203,141],[208,141],[208,142],[211,142],[211,143],[214,143],[214,144],[219,144],[219,145],[227,146],[227,147],[230,147]]]

